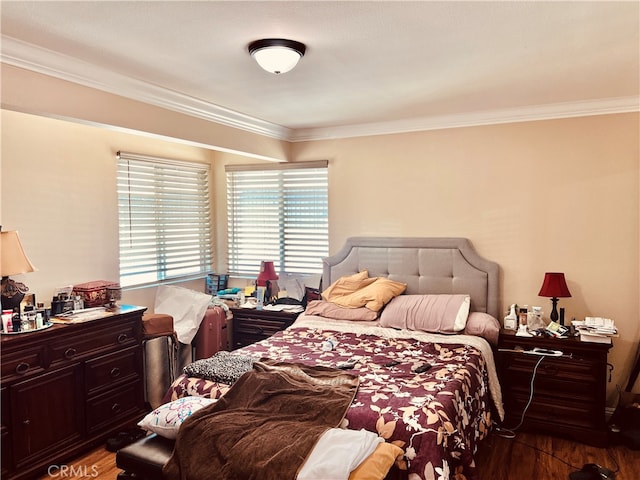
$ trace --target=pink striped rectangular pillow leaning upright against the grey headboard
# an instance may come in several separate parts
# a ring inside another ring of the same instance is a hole
[[[464,330],[469,295],[400,295],[382,311],[380,325],[432,333]]]

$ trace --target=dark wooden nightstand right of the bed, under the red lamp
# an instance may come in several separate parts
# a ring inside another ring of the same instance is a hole
[[[516,337],[515,331],[502,330],[497,362],[506,414],[503,426],[513,428],[520,423],[530,398],[533,371],[541,358],[517,350],[560,350],[562,356],[542,357],[538,365],[522,428],[605,446],[607,353],[611,346],[578,338]]]

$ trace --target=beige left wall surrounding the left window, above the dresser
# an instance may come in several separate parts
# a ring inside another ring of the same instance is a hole
[[[0,224],[18,230],[37,272],[16,275],[49,304],[59,286],[119,279],[116,152],[210,164],[216,152],[2,110]],[[204,289],[204,280],[193,283]],[[152,307],[155,289],[125,293]]]

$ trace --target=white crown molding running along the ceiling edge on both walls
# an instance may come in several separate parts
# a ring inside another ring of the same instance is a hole
[[[290,129],[188,95],[115,73],[2,35],[0,60],[51,77],[166,108],[210,122],[289,142],[410,133],[426,130],[552,120],[640,111],[640,96],[605,98],[456,115],[327,128]]]

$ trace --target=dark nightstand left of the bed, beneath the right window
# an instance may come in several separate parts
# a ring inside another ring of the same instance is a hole
[[[289,327],[300,313],[255,308],[232,308],[232,350],[269,338]]]

